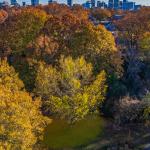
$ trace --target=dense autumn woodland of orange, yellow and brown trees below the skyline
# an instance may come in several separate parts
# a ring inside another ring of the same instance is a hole
[[[117,36],[89,16],[112,20]],[[51,118],[74,124],[96,113],[118,126],[149,125],[149,8],[6,7],[0,60],[0,150],[44,149]]]

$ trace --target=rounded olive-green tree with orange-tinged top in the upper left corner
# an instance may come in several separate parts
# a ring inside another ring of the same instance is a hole
[[[0,25],[0,46],[9,47],[13,53],[22,52],[40,32],[47,20],[44,11],[24,8]]]

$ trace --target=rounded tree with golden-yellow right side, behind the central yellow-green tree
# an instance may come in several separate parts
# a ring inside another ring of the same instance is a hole
[[[83,55],[91,62],[95,72],[104,69],[108,74],[120,74],[122,71],[122,58],[116,48],[114,37],[101,25],[82,26],[71,36],[67,46],[73,57]]]

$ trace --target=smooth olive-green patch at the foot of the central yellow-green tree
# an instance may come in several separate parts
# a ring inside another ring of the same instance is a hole
[[[73,148],[88,144],[103,133],[104,120],[89,116],[74,125],[64,120],[53,120],[45,130],[44,143],[49,148]]]

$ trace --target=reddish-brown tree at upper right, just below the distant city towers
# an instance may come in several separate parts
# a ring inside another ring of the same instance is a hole
[[[143,33],[149,31],[149,8],[142,8],[136,12],[129,12],[121,20],[115,22],[120,31],[120,38],[127,49],[139,49],[139,41]]]

